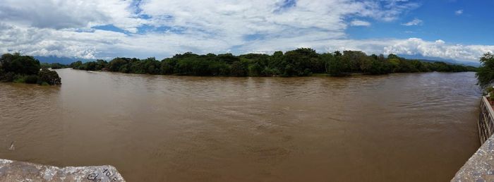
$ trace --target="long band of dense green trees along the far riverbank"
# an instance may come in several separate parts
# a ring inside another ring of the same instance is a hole
[[[323,73],[345,76],[352,73],[382,75],[388,73],[461,72],[476,71],[473,66],[444,62],[425,62],[404,59],[394,54],[366,55],[362,51],[335,51],[318,54],[314,49],[299,48],[283,53],[267,54],[176,54],[162,61],[120,58],[112,61],[76,61],[68,67],[87,71],[114,71],[152,75],[200,76],[306,76]]]

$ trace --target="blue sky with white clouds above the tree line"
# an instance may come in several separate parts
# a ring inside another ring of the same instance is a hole
[[[310,47],[477,62],[494,0],[0,0],[0,52],[163,59]]]

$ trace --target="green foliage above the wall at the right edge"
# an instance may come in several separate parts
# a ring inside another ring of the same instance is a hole
[[[476,73],[477,85],[485,89],[494,81],[494,54],[486,53],[481,57],[481,66]]]

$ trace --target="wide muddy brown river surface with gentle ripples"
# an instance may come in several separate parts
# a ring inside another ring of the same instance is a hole
[[[127,181],[449,181],[480,146],[474,73],[57,72],[61,86],[0,83],[0,158]]]

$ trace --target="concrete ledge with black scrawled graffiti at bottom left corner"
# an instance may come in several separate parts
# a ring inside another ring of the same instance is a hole
[[[114,166],[59,168],[0,159],[0,181],[125,181]]]

